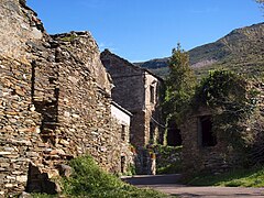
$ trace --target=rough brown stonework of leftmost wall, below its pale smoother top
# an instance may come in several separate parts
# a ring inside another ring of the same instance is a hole
[[[0,56],[0,195],[23,190],[29,163],[42,163],[40,123],[31,102],[31,65]]]

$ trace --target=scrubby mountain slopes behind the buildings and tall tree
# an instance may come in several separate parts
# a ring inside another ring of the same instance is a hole
[[[264,73],[264,23],[253,24],[230,32],[224,37],[190,50],[190,65],[199,77],[216,68],[238,73],[263,75]],[[135,63],[160,76],[168,74],[168,57]]]

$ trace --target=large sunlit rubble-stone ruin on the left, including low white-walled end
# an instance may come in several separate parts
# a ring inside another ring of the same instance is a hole
[[[125,172],[130,113],[112,103],[90,33],[50,36],[21,0],[0,15],[0,196],[54,193],[57,167],[82,154]]]

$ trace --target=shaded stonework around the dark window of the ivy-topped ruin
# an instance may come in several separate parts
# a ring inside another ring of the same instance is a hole
[[[198,172],[221,173],[237,163],[233,151],[227,146],[224,140],[218,139],[216,146],[204,147],[200,145],[198,119],[202,116],[210,116],[210,111],[200,108],[199,112],[189,117],[180,129],[183,166],[187,175]]]

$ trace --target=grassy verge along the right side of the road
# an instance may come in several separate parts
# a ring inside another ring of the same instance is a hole
[[[264,187],[264,167],[233,169],[221,175],[198,175],[187,184],[193,186]]]

